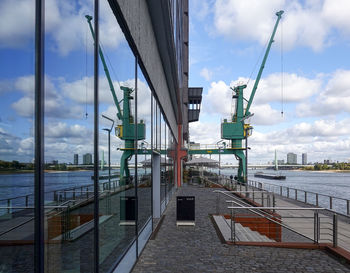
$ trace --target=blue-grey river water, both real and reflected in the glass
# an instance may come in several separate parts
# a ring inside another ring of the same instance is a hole
[[[212,169],[212,171],[218,172],[218,169]],[[265,185],[270,183],[278,186],[350,199],[350,173],[311,171],[275,172],[273,170],[263,170],[265,173],[277,173],[286,176],[286,180],[269,180],[254,177],[254,173],[257,171],[261,170],[248,170],[248,178]],[[115,170],[112,170],[112,174],[114,172]],[[225,175],[236,175],[237,169],[221,169],[220,172]],[[107,171],[100,173],[100,175],[106,174],[108,174]],[[93,171],[45,173],[45,192],[93,184],[93,180],[91,179],[92,175]],[[106,182],[106,180],[102,180],[101,182]],[[24,196],[32,194],[33,192],[33,173],[0,175],[0,200]],[[294,192],[291,191],[291,195],[292,194],[294,194]],[[299,193],[298,199],[303,200],[303,198],[302,193]],[[315,199],[314,195],[310,195],[308,198],[310,201]],[[319,201],[321,205],[327,207],[329,203],[327,200],[326,198],[322,199],[320,197]],[[335,209],[340,210],[343,213],[345,212],[346,207],[345,204],[343,204],[344,202],[341,204],[339,203],[340,201],[337,200],[334,200],[333,202]],[[12,205],[15,205],[16,203],[18,202],[12,203]],[[0,205],[6,206],[6,201],[0,202]]]

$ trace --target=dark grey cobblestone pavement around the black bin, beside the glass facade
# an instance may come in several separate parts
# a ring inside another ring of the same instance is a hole
[[[147,243],[133,272],[350,272],[320,250],[221,244],[209,218],[216,210],[212,191],[195,186],[177,191],[196,197],[195,227],[176,227],[174,196],[156,239]]]

